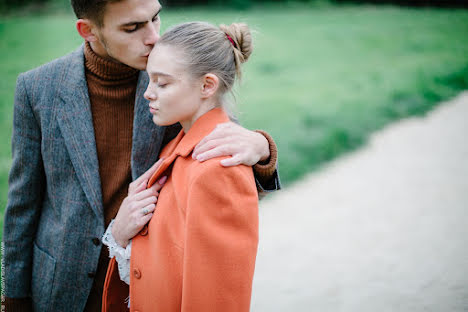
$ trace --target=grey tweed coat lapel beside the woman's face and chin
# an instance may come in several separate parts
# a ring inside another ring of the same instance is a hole
[[[143,94],[148,86],[148,74],[140,72],[135,98],[132,136],[132,178],[135,180],[157,160],[165,128],[153,123],[148,101]]]

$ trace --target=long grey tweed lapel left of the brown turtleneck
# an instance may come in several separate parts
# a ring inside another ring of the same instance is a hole
[[[93,117],[84,69],[83,46],[75,51],[59,88],[57,119],[78,180],[92,209],[103,216],[101,180],[96,152]]]

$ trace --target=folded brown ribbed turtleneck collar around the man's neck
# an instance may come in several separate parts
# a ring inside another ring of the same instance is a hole
[[[137,76],[140,72],[138,69],[132,68],[122,63],[107,60],[97,55],[91,49],[89,42],[86,42],[85,44],[84,55],[86,69],[103,80],[125,80]]]

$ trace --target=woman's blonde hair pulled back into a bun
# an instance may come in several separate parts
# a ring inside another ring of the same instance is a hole
[[[241,76],[241,64],[253,50],[249,27],[243,23],[219,27],[206,22],[179,24],[164,33],[158,41],[161,44],[180,48],[181,61],[194,77],[218,76],[221,95],[232,90],[236,77]]]

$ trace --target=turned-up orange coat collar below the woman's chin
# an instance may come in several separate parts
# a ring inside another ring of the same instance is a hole
[[[164,158],[164,160],[158,170],[151,176],[148,182],[148,188],[166,172],[170,165],[176,160],[177,156],[189,156],[198,142],[210,134],[216,125],[228,121],[229,117],[222,108],[214,108],[198,118],[187,133],[181,130],[162,151],[160,157]]]

